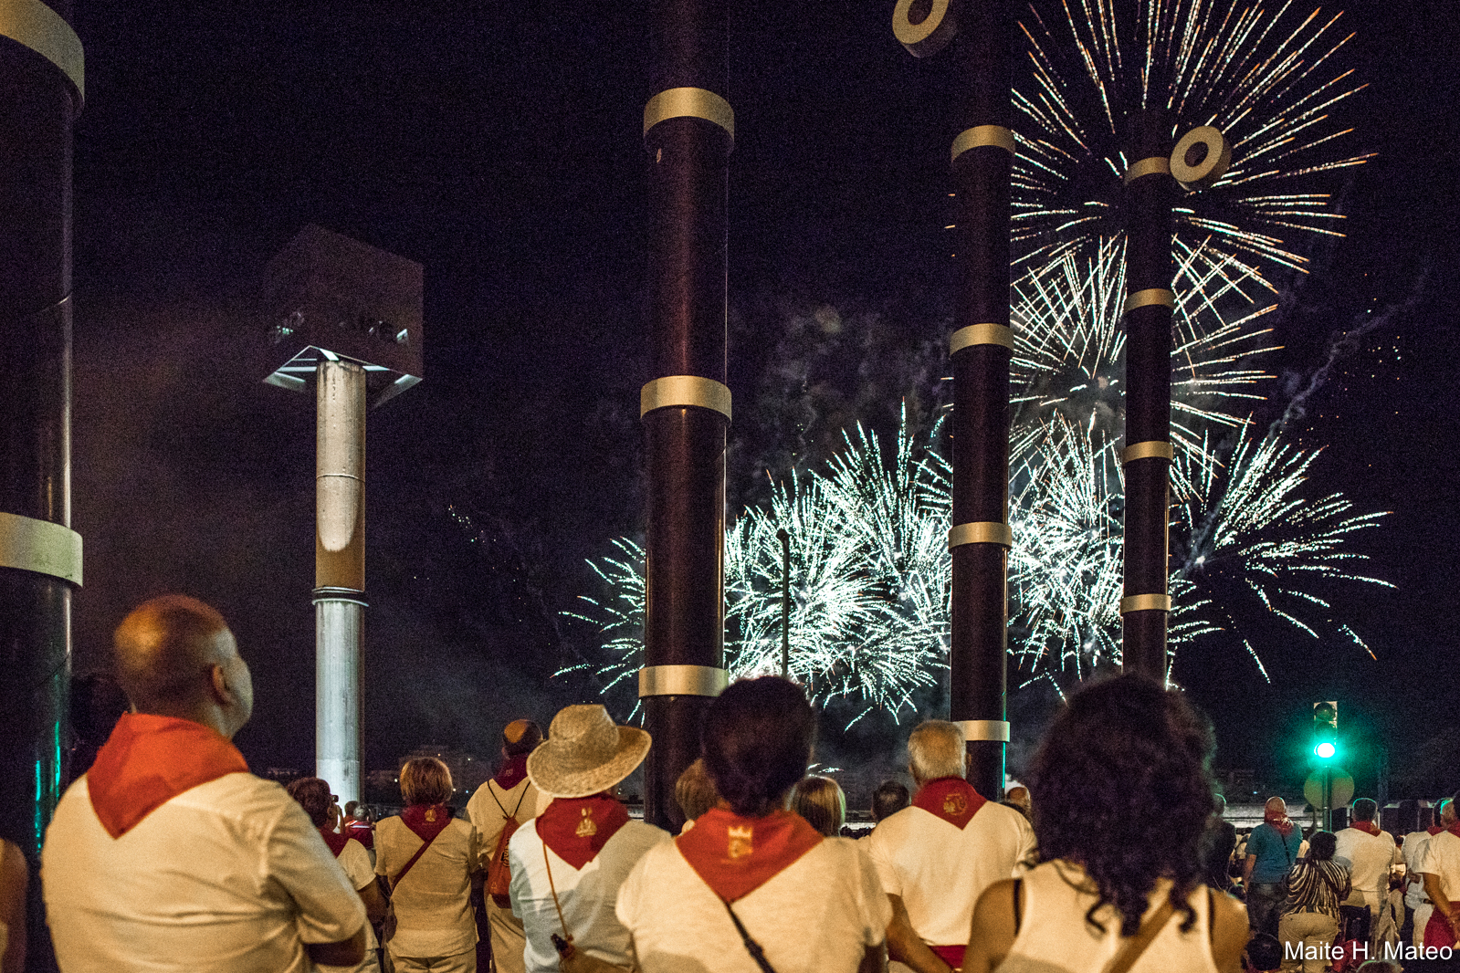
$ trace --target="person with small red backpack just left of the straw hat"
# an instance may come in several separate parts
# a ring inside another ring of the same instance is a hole
[[[502,728],[502,763],[496,775],[479,786],[466,804],[466,814],[476,829],[477,842],[488,868],[493,859],[507,865],[504,831],[518,829],[537,815],[537,788],[527,778],[527,757],[543,741],[542,726],[530,719],[514,719]],[[492,938],[492,961],[496,973],[523,973],[523,950],[527,948],[523,920],[512,915],[508,893],[493,896],[488,888],[482,896],[486,925]]]

